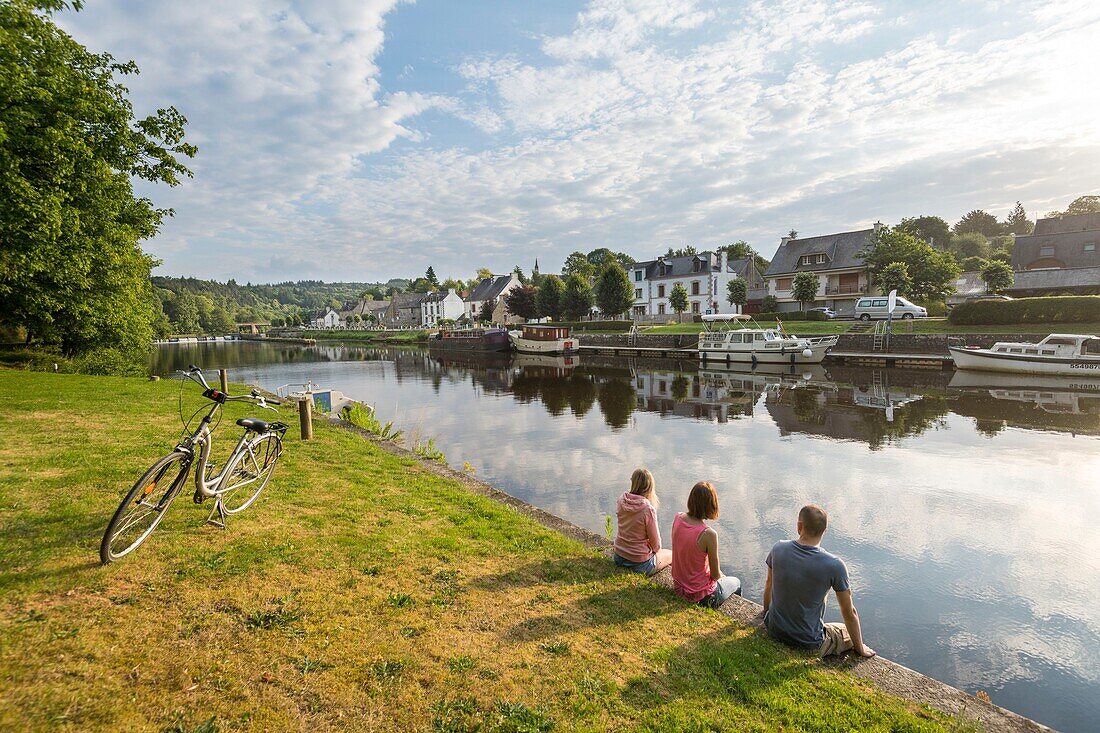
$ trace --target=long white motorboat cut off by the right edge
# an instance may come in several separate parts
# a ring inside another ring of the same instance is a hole
[[[947,348],[958,369],[1052,376],[1100,374],[1100,338],[1096,336],[1050,333],[1038,343],[998,341],[992,349]]]

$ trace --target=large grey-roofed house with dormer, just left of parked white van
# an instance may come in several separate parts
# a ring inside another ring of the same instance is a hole
[[[880,294],[859,252],[881,228],[882,223],[876,222],[873,228],[858,231],[796,239],[784,237],[763,275],[768,295],[776,296],[781,311],[799,310],[801,306],[792,293],[794,276],[812,272],[817,275],[817,298],[806,307],[825,306],[842,315],[854,314],[856,300],[861,295]]]

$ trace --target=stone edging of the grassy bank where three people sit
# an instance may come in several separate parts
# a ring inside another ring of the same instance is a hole
[[[391,453],[418,461],[420,467],[426,471],[459,481],[468,489],[506,504],[546,527],[560,532],[590,547],[603,549],[608,554],[608,556],[610,555],[610,543],[606,538],[591,533],[587,529],[583,529],[537,506],[528,504],[522,500],[516,499],[515,496],[503,492],[495,486],[473,479],[465,473],[455,471],[436,461],[419,458],[411,451],[406,450],[393,442],[375,440],[374,437],[366,430],[350,425],[339,418],[319,417],[316,419],[329,419],[334,425],[339,425],[343,429],[360,434],[364,438],[373,440],[376,445]],[[671,592],[672,576],[669,569],[659,572],[652,578],[652,581],[668,588]],[[919,592],[919,589],[914,589],[914,592]],[[734,622],[748,627],[760,626],[760,615],[763,609],[759,604],[739,597],[734,597],[719,609],[721,613],[729,616],[729,619]],[[943,713],[955,715],[960,720],[972,722],[983,731],[990,731],[993,733],[1034,733],[1040,731],[1048,732],[1052,730],[1031,719],[1019,715],[1011,710],[1007,710],[978,697],[968,694],[963,690],[922,675],[897,663],[890,661],[889,659],[884,659],[881,656],[877,656],[871,659],[861,659],[855,658],[851,654],[848,654],[844,657],[831,658],[827,664],[844,669],[846,672],[855,675],[856,677],[870,681],[876,688],[883,692],[927,705]]]

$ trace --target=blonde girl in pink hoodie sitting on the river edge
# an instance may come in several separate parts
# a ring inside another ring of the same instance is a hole
[[[619,496],[616,506],[615,565],[651,576],[672,562],[672,550],[661,549],[658,505],[653,474],[648,469],[635,469],[630,491]]]

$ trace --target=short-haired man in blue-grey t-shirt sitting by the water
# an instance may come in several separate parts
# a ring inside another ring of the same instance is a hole
[[[768,553],[768,580],[763,587],[763,625],[768,633],[791,646],[820,656],[844,654],[861,657],[875,650],[864,644],[859,614],[851,603],[851,586],[844,560],[821,548],[828,514],[807,504],[799,512],[799,539],[776,543]],[[843,624],[825,623],[825,601],[836,592]]]

